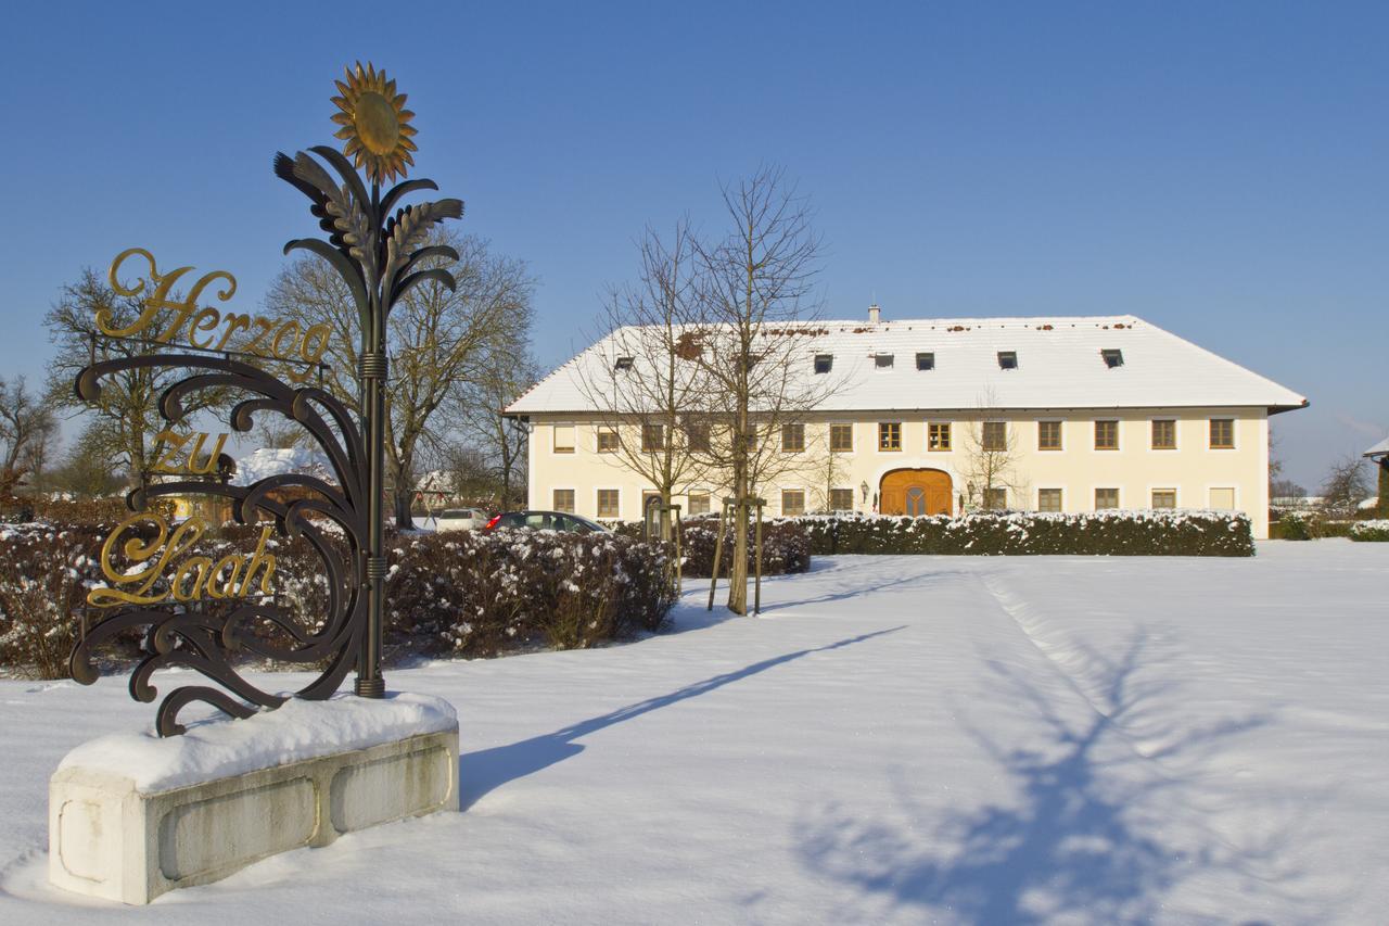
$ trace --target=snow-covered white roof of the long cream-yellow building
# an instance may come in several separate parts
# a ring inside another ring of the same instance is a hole
[[[828,353],[829,375],[840,384],[820,406],[826,412],[1189,406],[1283,412],[1307,405],[1292,389],[1135,316],[824,321],[814,328],[822,334],[806,343],[806,378],[817,375],[814,356]],[[585,377],[611,370],[619,338],[621,331],[588,348],[507,413],[590,410]],[[1101,353],[1111,350],[1120,352],[1113,367]],[[1015,368],[1001,368],[1000,352],[1015,352]],[[875,355],[883,353],[893,355],[890,368],[875,364]],[[932,370],[917,370],[918,353],[933,355]]]

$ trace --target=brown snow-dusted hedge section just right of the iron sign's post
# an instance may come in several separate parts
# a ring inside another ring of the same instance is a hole
[[[388,642],[493,656],[539,644],[585,648],[656,630],[675,603],[668,558],[660,544],[613,534],[397,537],[389,551]]]

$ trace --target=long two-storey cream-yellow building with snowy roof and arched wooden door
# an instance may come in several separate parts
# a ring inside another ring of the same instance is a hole
[[[879,321],[874,309],[815,328],[804,377],[835,388],[771,437],[797,463],[758,487],[771,514],[1218,509],[1268,535],[1268,416],[1307,400],[1142,318]],[[642,516],[651,487],[586,399],[593,370],[633,367],[621,343],[604,338],[507,409],[529,427],[531,507]],[[720,481],[696,478],[675,502],[715,509]]]

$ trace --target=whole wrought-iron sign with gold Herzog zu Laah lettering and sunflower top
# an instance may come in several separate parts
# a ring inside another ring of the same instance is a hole
[[[72,677],[90,684],[99,674],[93,665],[96,647],[143,628],[147,655],[131,676],[131,694],[138,701],[156,698],[150,677],[164,667],[193,669],[221,685],[185,685],[169,692],[157,715],[161,736],[183,731],[178,713],[194,701],[235,717],[283,704],[285,697],[257,688],[239,672],[236,662],[244,656],[319,669],[296,692],[300,698],[329,697],[353,667],[358,695],[385,694],[386,323],[392,307],[414,286],[433,281],[454,288],[449,271],[431,264],[457,260],[458,254],[426,242],[433,225],[463,216],[463,203],[440,199],[397,207],[410,193],[438,189],[428,179],[404,181],[382,193],[383,181],[403,178],[407,165],[414,164],[414,113],[404,108],[406,96],[396,92],[396,82],[369,64],[349,68],[338,89],[340,96],[333,103],[339,111],[332,118],[342,127],[336,138],[344,142],[343,150],[317,146],[294,157],[278,154],[275,174],[308,197],[310,213],[328,232],[326,239],[290,241],[285,253],[307,250],[322,257],[351,292],[361,336],[360,421],[343,402],[310,382],[329,346],[328,325],[301,330],[293,320],[199,306],[208,288],[219,302],[232,298],[236,279],[226,271],[204,274],[186,295],[174,298],[175,284],[193,268],[160,273],[154,256],[140,247],[115,257],[110,279],[119,295],[140,298],[143,311],[124,327],[115,325],[108,311],[99,311],[96,338],[140,341],[150,352],[103,362],[93,356],[92,366],[76,380],[78,396],[92,402],[100,396],[101,380],[113,374],[189,373],[160,396],[160,414],[171,428],[160,434],[167,449],[153,467],[189,478],[142,484],[128,495],[133,514],[101,548],[101,569],[110,585],[93,588],[88,598],[92,608],[115,610],[85,634],[71,656]],[[136,257],[147,264],[147,278],[126,284],[122,267]],[[169,311],[172,320],[165,321]],[[171,348],[174,352],[163,352]],[[276,377],[271,370],[283,373]],[[222,453],[226,435],[218,435],[204,455],[211,435],[175,430],[185,417],[185,399],[211,389],[240,396],[229,414],[233,431],[250,431],[261,414],[278,414],[301,425],[328,459],[336,485],[310,474],[271,476],[244,487],[229,484],[222,477],[235,464]],[[285,489],[290,488],[293,498],[286,498]],[[274,534],[304,538],[328,580],[326,613],[306,627],[276,606],[269,526],[261,530],[250,553],[231,553],[215,562],[193,553],[207,521],[194,516],[175,527],[150,507],[156,499],[189,494],[228,499],[238,523],[256,523],[264,513],[274,519]],[[121,563],[133,564],[122,569]]]

